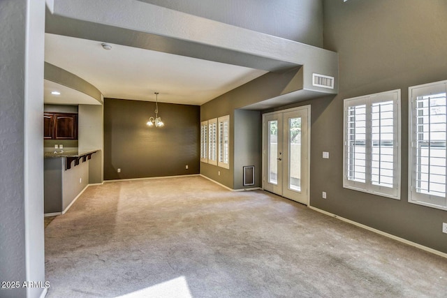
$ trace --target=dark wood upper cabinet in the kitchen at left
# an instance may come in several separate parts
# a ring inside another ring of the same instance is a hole
[[[45,113],[44,139],[78,140],[78,114]]]

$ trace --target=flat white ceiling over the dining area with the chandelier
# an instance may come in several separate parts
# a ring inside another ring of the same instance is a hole
[[[110,43],[109,43],[110,44]],[[202,105],[265,73],[124,45],[45,33],[45,61],[93,84],[105,98]],[[45,80],[45,88],[47,86]],[[61,94],[61,96],[64,96]],[[45,94],[45,103],[49,103]]]

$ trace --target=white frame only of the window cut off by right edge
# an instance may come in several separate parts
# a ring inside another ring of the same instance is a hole
[[[417,136],[416,134],[421,133],[416,128],[416,100],[418,97],[430,96],[430,94],[446,94],[446,114],[447,114],[447,80],[432,82],[428,84],[420,84],[416,86],[409,87],[409,174],[408,174],[408,202],[412,204],[420,204],[426,207],[432,207],[441,210],[447,210],[447,164],[445,167],[445,181],[446,181],[446,192],[444,197],[437,195],[430,195],[425,193],[419,193],[416,191],[416,169],[417,164],[417,153],[418,146],[416,145]],[[446,119],[447,120],[447,119]],[[447,122],[447,121],[446,121]],[[429,122],[432,124],[431,122]],[[429,131],[433,132],[432,130]],[[447,132],[447,124],[446,124]],[[423,131],[425,133],[425,131]],[[447,142],[447,136],[446,136]],[[429,145],[430,146],[430,145]],[[429,147],[430,148],[430,147]],[[446,158],[447,158],[447,146],[446,146]],[[446,162],[447,163],[447,162]],[[429,161],[430,167],[430,161]],[[427,173],[430,175],[430,170]],[[429,182],[430,183],[430,182]]]

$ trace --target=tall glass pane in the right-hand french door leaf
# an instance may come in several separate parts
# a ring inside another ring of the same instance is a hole
[[[288,188],[301,191],[301,117],[288,119]]]

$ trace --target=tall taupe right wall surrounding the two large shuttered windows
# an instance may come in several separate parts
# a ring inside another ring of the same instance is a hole
[[[447,80],[445,15],[444,0],[324,1],[324,44],[339,53],[339,94],[310,103],[311,205],[447,253],[447,212],[407,202],[408,87]],[[402,91],[401,200],[342,187],[344,98],[392,89]]]

